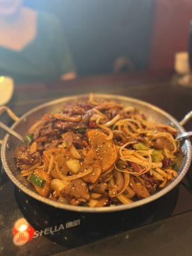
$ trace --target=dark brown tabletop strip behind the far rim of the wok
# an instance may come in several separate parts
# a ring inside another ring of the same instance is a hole
[[[192,109],[192,90],[171,83],[173,72],[80,77],[74,81],[15,84],[10,108],[22,115],[44,102],[81,93],[111,93],[150,102],[180,120]]]

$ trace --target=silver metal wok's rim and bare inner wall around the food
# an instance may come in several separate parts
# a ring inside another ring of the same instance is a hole
[[[17,122],[12,125],[12,129],[18,132],[21,136],[25,136],[28,132],[29,127],[33,125],[36,120],[42,118],[45,113],[59,111],[63,104],[66,102],[72,102],[79,99],[87,98],[88,95],[77,95],[73,97],[64,97],[62,99],[54,100],[52,102],[48,102],[46,104],[42,104],[37,108],[32,109],[25,115],[21,116]],[[102,94],[95,94],[95,98],[99,99],[111,99],[111,100],[118,100],[118,102],[124,104],[125,106],[133,106],[135,108],[140,109],[141,112],[146,113],[150,120],[154,120],[155,122],[159,122],[162,124],[169,124],[173,125],[179,134],[186,132],[182,125],[188,122],[189,118],[192,117],[192,113],[188,113],[184,117],[184,119],[179,123],[175,118],[171,115],[163,111],[162,109],[153,106],[152,104],[148,104],[147,102],[143,102],[141,100],[132,99],[129,97],[122,97],[117,95],[102,95]],[[14,117],[14,116],[13,116]],[[17,118],[15,118],[17,119]],[[179,184],[180,180],[184,177],[186,172],[188,172],[190,163],[191,163],[191,142],[189,138],[186,138],[181,141],[180,143],[180,150],[182,152],[182,164],[179,168],[179,175],[172,180],[170,184],[168,184],[165,188],[157,191],[152,196],[148,198],[144,198],[133,202],[132,204],[125,204],[125,205],[118,205],[118,206],[111,206],[111,207],[84,207],[84,206],[74,206],[74,205],[67,205],[61,204],[60,202],[54,202],[48,198],[44,198],[43,196],[38,195],[33,189],[33,186],[26,180],[24,177],[20,177],[19,170],[15,165],[14,155],[15,155],[15,148],[20,145],[20,141],[11,136],[6,134],[3,140],[3,144],[1,147],[1,159],[4,166],[4,170],[7,173],[8,177],[12,180],[12,182],[24,193],[32,196],[36,200],[43,202],[45,204],[52,205],[53,207],[70,210],[70,211],[77,211],[77,212],[113,212],[113,211],[123,211],[126,209],[132,209],[134,207],[138,207],[140,205],[147,204],[156,200],[157,198],[165,195],[169,191],[171,191],[177,184]]]

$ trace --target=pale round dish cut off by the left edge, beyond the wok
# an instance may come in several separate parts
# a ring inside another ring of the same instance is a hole
[[[0,76],[0,106],[7,104],[12,99],[14,82],[11,77]]]

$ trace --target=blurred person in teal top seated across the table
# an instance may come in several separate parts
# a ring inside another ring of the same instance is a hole
[[[0,76],[16,81],[76,77],[56,17],[25,8],[22,0],[0,0]]]

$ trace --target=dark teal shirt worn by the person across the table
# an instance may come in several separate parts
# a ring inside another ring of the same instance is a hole
[[[15,81],[50,81],[73,71],[60,22],[48,13],[38,13],[36,37],[24,49],[0,46],[0,76],[11,76]]]

